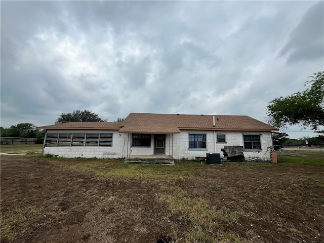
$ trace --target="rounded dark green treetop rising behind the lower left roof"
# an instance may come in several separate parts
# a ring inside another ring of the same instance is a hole
[[[55,124],[70,123],[71,121],[107,121],[102,119],[98,114],[90,110],[74,110],[72,113],[62,113],[56,119]]]

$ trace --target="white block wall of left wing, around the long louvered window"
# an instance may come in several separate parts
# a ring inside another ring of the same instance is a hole
[[[127,155],[128,134],[114,130],[50,130],[48,133],[112,133],[112,147],[108,146],[60,146],[45,147],[43,154],[66,158],[123,158]]]

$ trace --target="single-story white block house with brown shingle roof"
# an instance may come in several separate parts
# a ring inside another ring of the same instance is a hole
[[[123,122],[72,122],[46,129],[44,154],[61,157],[195,159],[240,146],[246,159],[270,160],[277,128],[245,115],[130,113]]]

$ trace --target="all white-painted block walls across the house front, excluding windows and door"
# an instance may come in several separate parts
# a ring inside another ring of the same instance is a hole
[[[50,153],[60,157],[97,157],[97,158],[124,158],[136,155],[154,154],[154,135],[151,134],[150,147],[132,147],[132,134],[119,133],[109,130],[51,130],[48,133],[112,133],[112,147],[108,146],[61,146],[45,147],[44,154]],[[206,134],[207,149],[189,149],[189,133]],[[206,157],[206,153],[220,153],[224,146],[244,146],[243,134],[260,134],[262,150],[245,150],[246,160],[254,158],[270,160],[270,149],[272,146],[271,132],[241,132],[241,131],[216,131],[215,134],[225,134],[226,143],[216,143],[214,131],[205,130],[181,130],[180,134],[166,134],[165,154],[175,159],[194,159],[195,157]]]

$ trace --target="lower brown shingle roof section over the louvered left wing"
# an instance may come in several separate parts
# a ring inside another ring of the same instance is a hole
[[[109,123],[107,121],[77,121],[72,123],[61,123],[43,127],[37,127],[37,129],[102,129],[102,130],[119,130],[122,123]]]

